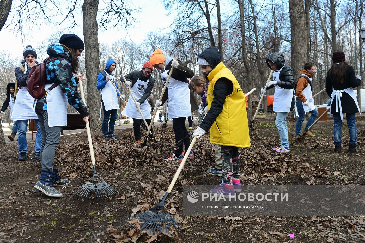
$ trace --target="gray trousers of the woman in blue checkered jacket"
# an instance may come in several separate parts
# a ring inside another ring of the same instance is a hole
[[[59,142],[59,134],[62,127],[48,126],[48,113],[40,109],[35,109],[38,115],[39,127],[42,133],[41,157],[42,170],[53,173],[53,160]]]

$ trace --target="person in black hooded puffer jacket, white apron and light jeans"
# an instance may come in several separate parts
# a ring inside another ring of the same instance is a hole
[[[274,70],[273,80],[267,83],[267,88],[271,89],[275,86],[274,93],[274,112],[276,112],[275,125],[280,134],[280,146],[273,147],[276,152],[290,152],[288,140],[287,115],[295,106],[295,90],[293,70],[285,64],[283,54],[275,52],[266,59],[266,64],[270,69]],[[266,93],[264,88],[262,93]]]

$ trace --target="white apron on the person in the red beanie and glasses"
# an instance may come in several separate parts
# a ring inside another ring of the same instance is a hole
[[[137,82],[135,82],[135,84],[132,86],[131,92],[136,101],[141,99],[141,97],[145,94],[149,81],[150,80],[148,79],[147,82],[145,82],[138,78]],[[145,119],[151,119],[151,105],[148,103],[147,99],[139,106],[139,109],[141,109],[141,112]],[[129,118],[142,119],[141,114],[135,106],[131,94],[129,94],[128,102],[126,107],[124,107],[122,111],[122,115]]]

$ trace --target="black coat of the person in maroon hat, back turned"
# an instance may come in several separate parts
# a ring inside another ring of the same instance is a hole
[[[345,82],[343,84],[338,83],[336,80],[336,77],[330,77],[327,73],[327,77],[326,77],[327,95],[331,97],[333,89],[334,90],[343,90],[343,89],[347,89],[347,88],[356,88],[361,83],[361,80],[357,79],[355,77],[354,68],[350,65],[347,65],[346,77],[344,79],[345,79]],[[340,99],[341,99],[342,113],[359,112],[354,99],[352,99],[352,97],[348,93],[342,92],[342,96]],[[336,112],[336,107],[335,107],[334,101],[331,104],[331,114],[339,115],[339,112]]]

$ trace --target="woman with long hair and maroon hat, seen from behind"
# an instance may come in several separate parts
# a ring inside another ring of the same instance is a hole
[[[360,112],[357,97],[353,90],[361,83],[361,76],[356,75],[352,66],[346,61],[343,51],[332,55],[333,64],[327,72],[326,92],[331,97],[331,114],[333,115],[333,137],[335,152],[341,152],[341,128],[343,113],[346,113],[347,127],[350,134],[349,153],[356,153],[357,130],[355,113]]]

